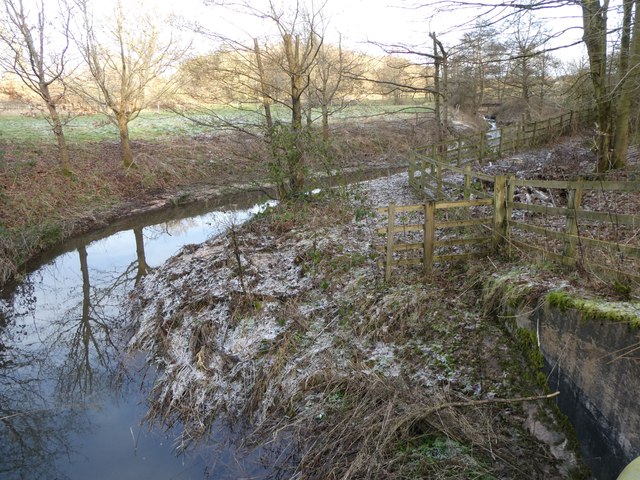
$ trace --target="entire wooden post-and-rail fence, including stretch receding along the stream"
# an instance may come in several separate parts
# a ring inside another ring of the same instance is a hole
[[[482,162],[542,143],[589,118],[587,111],[571,112],[500,129],[497,138],[487,139],[483,132],[475,141],[470,137],[412,153],[409,184],[430,201],[380,210],[387,215],[387,226],[378,229],[387,236],[385,279],[391,278],[392,267],[411,264],[422,264],[428,276],[435,262],[474,255],[469,251],[442,253],[443,247],[459,249],[491,239],[494,250],[535,254],[572,268],[580,266],[607,281],[640,285],[640,215],[636,211],[640,182],[523,180],[474,172],[469,165],[473,160]],[[455,201],[457,198],[463,200]],[[473,207],[482,207],[477,218],[472,218]],[[442,221],[436,216],[438,211],[451,209],[465,212],[465,218]],[[423,222],[398,222],[397,214],[411,212],[422,212]],[[484,226],[485,230],[469,234],[467,228],[455,237],[446,233],[447,228],[473,226]],[[397,238],[418,231],[423,232],[419,240]],[[400,258],[420,250],[421,256]]]

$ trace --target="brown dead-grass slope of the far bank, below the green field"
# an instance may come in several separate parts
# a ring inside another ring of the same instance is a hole
[[[400,121],[340,123],[330,147],[311,149],[307,166],[333,174],[404,164],[403,154],[426,141],[427,129]],[[68,178],[59,173],[54,145],[0,143],[0,285],[43,249],[158,197],[180,198],[198,185],[256,188],[268,178],[264,144],[240,133],[136,141],[133,150],[136,168],[124,170],[116,142],[74,144],[75,175]]]

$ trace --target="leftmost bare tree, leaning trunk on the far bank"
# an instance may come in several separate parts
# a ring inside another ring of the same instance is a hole
[[[58,16],[49,17],[44,0],[37,3],[33,14],[25,10],[23,0],[4,0],[0,26],[0,41],[10,52],[9,56],[0,57],[0,66],[17,75],[46,105],[45,118],[56,137],[60,168],[65,175],[71,174],[71,163],[58,105],[66,93],[62,77],[67,68],[70,17],[71,10],[64,7]],[[51,38],[56,33],[62,39],[59,46]]]

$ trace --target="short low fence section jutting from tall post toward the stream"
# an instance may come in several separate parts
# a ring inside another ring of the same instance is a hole
[[[385,281],[391,280],[394,266],[422,264],[425,278],[431,275],[435,262],[455,261],[470,258],[477,252],[460,252],[459,248],[485,246],[493,239],[492,224],[496,221],[492,215],[470,218],[469,209],[472,207],[487,207],[493,204],[492,199],[464,200],[457,202],[430,201],[423,205],[394,204],[378,209],[378,213],[387,217],[387,226],[378,229],[379,235],[386,235],[385,246]],[[458,210],[457,218],[451,219],[445,212]],[[495,209],[492,209],[495,211]],[[440,213],[444,215],[439,215]],[[400,215],[400,218],[397,218]],[[466,218],[464,218],[466,217]],[[469,232],[474,229],[475,234]],[[479,233],[478,227],[480,227]],[[446,231],[451,229],[465,229],[465,235],[458,234],[453,238],[447,237]],[[398,237],[403,238],[398,238]],[[446,248],[458,248],[453,253],[443,253]],[[421,252],[419,256],[414,252]],[[398,258],[398,254],[404,255]]]

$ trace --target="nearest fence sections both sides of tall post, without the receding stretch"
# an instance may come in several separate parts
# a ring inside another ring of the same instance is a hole
[[[387,226],[378,229],[379,234],[386,234],[385,279],[391,279],[394,266],[413,264],[422,264],[428,277],[436,262],[463,260],[478,253],[460,252],[460,246],[490,243],[494,251],[535,254],[572,268],[580,266],[607,281],[640,285],[640,215],[633,210],[640,204],[639,181],[523,180],[499,175],[492,183],[492,198],[432,200],[379,209],[387,216]],[[632,195],[635,201],[629,202]],[[630,212],[623,213],[622,205],[627,203]],[[600,204],[605,208],[598,209]],[[473,207],[482,208],[472,213]],[[462,214],[453,220],[447,214],[438,216],[438,212],[453,209]],[[421,222],[407,216],[418,212]],[[447,229],[452,228],[464,230],[450,235]],[[421,236],[416,238],[415,232]],[[443,253],[444,247],[458,251]],[[398,258],[415,251],[422,255]]]

